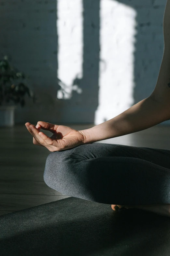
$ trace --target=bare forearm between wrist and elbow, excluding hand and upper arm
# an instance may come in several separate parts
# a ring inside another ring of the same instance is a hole
[[[148,97],[120,115],[80,132],[85,135],[85,144],[93,143],[145,130],[169,119],[165,106]]]

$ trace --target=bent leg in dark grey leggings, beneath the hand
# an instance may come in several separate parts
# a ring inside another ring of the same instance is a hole
[[[91,143],[51,152],[44,181],[104,204],[170,204],[170,150]]]

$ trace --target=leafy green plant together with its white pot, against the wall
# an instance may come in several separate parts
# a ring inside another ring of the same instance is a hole
[[[7,56],[0,60],[0,126],[14,125],[14,110],[17,104],[25,106],[26,94],[35,103],[35,94],[25,84],[26,78],[29,77],[10,65]]]

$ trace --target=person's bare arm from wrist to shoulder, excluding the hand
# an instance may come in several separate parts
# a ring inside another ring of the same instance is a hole
[[[167,0],[164,11],[163,36],[163,59],[152,94],[120,115],[100,125],[80,131],[85,137],[85,143],[145,130],[170,119],[170,0]]]

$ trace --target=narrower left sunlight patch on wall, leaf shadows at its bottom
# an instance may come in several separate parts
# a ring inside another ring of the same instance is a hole
[[[82,78],[83,15],[82,0],[57,0],[58,99],[70,99],[72,92],[82,93],[75,78]]]

